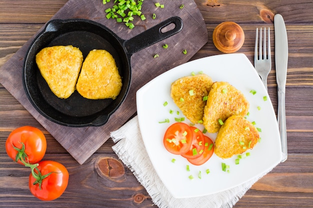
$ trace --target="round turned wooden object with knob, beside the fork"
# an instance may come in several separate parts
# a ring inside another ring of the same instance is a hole
[[[242,28],[235,22],[225,21],[218,24],[213,31],[213,43],[223,53],[239,50],[244,42]]]

